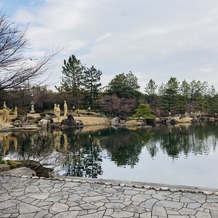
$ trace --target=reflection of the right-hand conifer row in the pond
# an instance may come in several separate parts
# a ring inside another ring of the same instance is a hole
[[[207,154],[216,148],[218,133],[216,123],[198,123],[190,126],[160,126],[156,129],[155,143],[163,152],[176,158],[179,154]]]

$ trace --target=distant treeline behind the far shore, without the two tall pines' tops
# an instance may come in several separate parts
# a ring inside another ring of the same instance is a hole
[[[46,86],[34,86],[31,89],[2,91],[0,95],[1,105],[6,101],[9,108],[17,106],[20,113],[29,112],[31,101],[34,101],[37,112],[51,112],[54,103],[60,104],[63,111],[64,100],[67,100],[70,110],[91,108],[107,116],[131,116],[140,103],[149,104],[155,116],[185,112],[216,116],[218,113],[218,94],[207,82],[179,82],[171,77],[166,84],[158,86],[151,79],[142,93],[132,72],[116,75],[107,87],[99,86],[93,93],[84,87],[65,90],[61,86],[58,91],[52,91]]]

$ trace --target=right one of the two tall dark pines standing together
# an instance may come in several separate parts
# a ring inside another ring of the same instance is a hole
[[[97,70],[94,66],[86,68],[84,71],[83,85],[87,94],[88,105],[91,107],[93,107],[94,102],[96,102],[99,97],[101,75],[102,72]]]

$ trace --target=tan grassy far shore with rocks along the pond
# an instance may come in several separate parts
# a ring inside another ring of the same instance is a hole
[[[132,118],[129,119],[127,121],[121,120],[118,117],[112,119],[111,117],[105,117],[102,116],[100,114],[94,113],[94,112],[89,112],[89,113],[79,113],[79,114],[75,114],[75,113],[71,113],[71,115],[73,115],[73,118],[76,121],[80,121],[83,125],[83,129],[81,129],[82,132],[89,132],[89,131],[97,131],[99,129],[105,129],[108,128],[110,126],[121,126],[121,127],[126,127],[126,128],[138,128],[138,127],[149,127],[149,125],[146,125],[146,122],[144,122],[144,118]],[[4,123],[2,118],[0,117],[0,131],[4,132],[4,131],[19,131],[19,130],[37,130],[39,129],[41,126],[39,126],[38,121],[36,121],[37,119],[39,120],[41,117],[41,119],[44,119],[44,117],[41,116],[41,114],[39,113],[34,113],[34,114],[27,114],[27,121],[33,121],[35,123],[22,123],[21,126],[15,126],[12,122],[7,122]],[[10,120],[12,120],[12,117],[9,117]],[[46,120],[48,118],[45,118]],[[35,121],[34,121],[35,120]],[[59,119],[57,117],[52,118],[53,123],[55,123],[56,125],[58,125],[58,123],[60,124],[61,121],[64,120],[64,116],[59,117]],[[202,119],[197,119],[197,118],[192,118],[189,116],[169,116],[169,117],[157,117],[156,120],[152,123],[150,123],[150,125],[155,125],[155,124],[172,124],[174,126],[189,126],[191,125],[193,122],[198,122],[200,120],[203,121],[217,121],[217,118],[212,119],[212,117],[208,118],[208,117],[203,117]],[[20,121],[21,122],[21,121]],[[49,124],[48,124],[49,125]],[[58,125],[59,126],[59,125]],[[150,126],[151,127],[151,126]]]

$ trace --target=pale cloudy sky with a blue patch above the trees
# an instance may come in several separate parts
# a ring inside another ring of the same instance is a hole
[[[170,77],[207,81],[218,90],[217,0],[0,0],[9,18],[27,27],[29,55],[52,60],[47,84],[59,85],[64,59],[102,71],[107,85],[133,72],[144,88]]]

